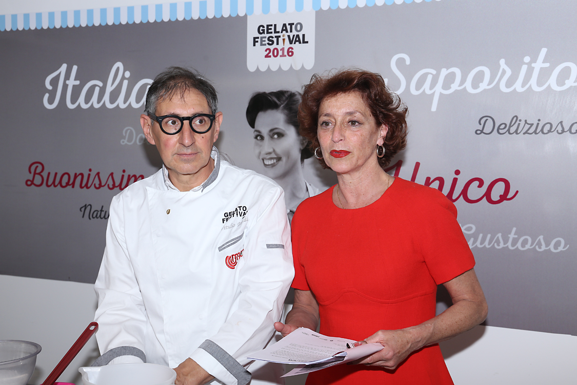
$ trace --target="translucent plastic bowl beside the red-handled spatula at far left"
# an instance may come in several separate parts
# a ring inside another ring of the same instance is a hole
[[[36,367],[36,355],[40,350],[42,347],[35,342],[0,341],[0,384],[26,385]]]

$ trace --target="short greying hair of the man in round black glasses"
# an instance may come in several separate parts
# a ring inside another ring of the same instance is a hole
[[[196,70],[177,66],[168,67],[154,78],[146,94],[144,112],[156,115],[156,106],[159,102],[173,98],[177,92],[182,98],[191,89],[203,94],[211,113],[216,114],[218,97],[212,84]]]

